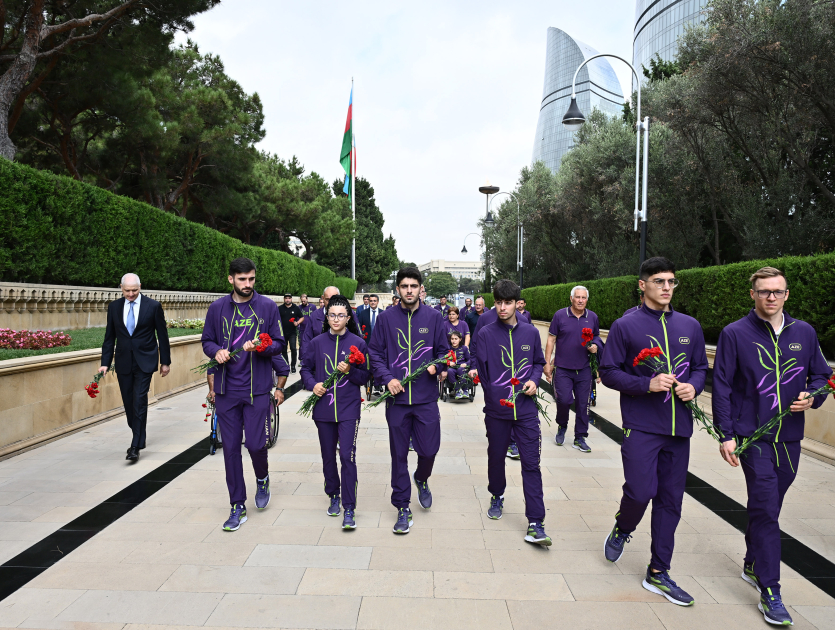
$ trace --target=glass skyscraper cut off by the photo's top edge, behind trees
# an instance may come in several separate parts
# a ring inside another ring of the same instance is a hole
[[[656,53],[664,61],[676,56],[677,41],[688,24],[701,22],[708,0],[636,0],[632,65],[642,75]],[[633,88],[635,86],[633,85]]]

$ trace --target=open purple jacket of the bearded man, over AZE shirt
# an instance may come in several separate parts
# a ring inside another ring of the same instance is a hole
[[[270,298],[253,291],[248,302],[238,304],[232,294],[215,300],[206,313],[203,326],[203,352],[214,358],[221,349],[234,350],[260,333],[272,337],[263,352],[242,352],[215,370],[215,392],[247,391],[250,398],[267,394],[273,387],[272,358],[281,354],[286,342],[281,331],[278,307]]]

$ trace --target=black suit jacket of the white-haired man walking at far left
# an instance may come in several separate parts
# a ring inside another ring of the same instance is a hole
[[[134,360],[142,372],[156,372],[160,363],[171,365],[171,346],[162,304],[142,295],[139,321],[133,329],[133,336],[128,334],[124,312],[123,297],[107,305],[107,328],[101,347],[102,366],[109,366],[113,361],[114,342],[117,374],[130,374]]]

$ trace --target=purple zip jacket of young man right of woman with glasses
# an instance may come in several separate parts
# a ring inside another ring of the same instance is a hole
[[[403,380],[412,370],[449,351],[444,320],[438,311],[423,304],[414,312],[398,306],[377,318],[368,349],[375,382],[385,386],[393,378]],[[444,366],[436,367],[443,371]],[[395,405],[437,400],[438,380],[428,372],[394,396]]]

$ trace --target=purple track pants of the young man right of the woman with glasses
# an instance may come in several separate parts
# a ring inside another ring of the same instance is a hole
[[[441,448],[441,414],[438,402],[420,405],[386,405],[391,449],[391,504],[396,508],[409,507],[412,480],[409,478],[409,438],[418,456],[415,477],[428,481],[435,465],[435,455]]]

